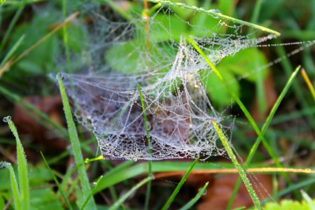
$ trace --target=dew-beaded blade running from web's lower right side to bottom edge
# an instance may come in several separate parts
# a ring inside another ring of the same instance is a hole
[[[255,207],[257,209],[261,209],[260,201],[259,201],[255,191],[253,190],[251,183],[247,179],[246,173],[245,173],[243,167],[241,167],[241,165],[237,161],[237,158],[235,157],[235,154],[232,151],[232,148],[230,146],[228,139],[225,137],[225,135],[223,134],[223,131],[220,129],[220,127],[218,127],[218,125],[216,124],[216,122],[214,120],[212,120],[212,124],[214,125],[214,128],[216,129],[216,133],[218,134],[218,137],[220,137],[225,150],[227,151],[229,157],[231,158],[233,164],[235,165],[235,168],[237,168],[237,171],[239,171],[239,176],[241,176],[241,179],[243,180],[243,182],[246,186],[246,189],[248,190],[248,193],[251,196],[251,200],[253,200],[253,203],[255,204]]]

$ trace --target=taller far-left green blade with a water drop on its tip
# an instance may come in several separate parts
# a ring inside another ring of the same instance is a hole
[[[25,152],[23,146],[20,141],[20,137],[18,135],[18,131],[11,120],[10,116],[3,118],[3,121],[8,122],[8,126],[10,127],[13,136],[16,141],[16,152],[18,156],[18,173],[19,173],[19,183],[20,183],[20,195],[23,209],[29,209],[29,176],[27,174],[27,159],[25,156]]]

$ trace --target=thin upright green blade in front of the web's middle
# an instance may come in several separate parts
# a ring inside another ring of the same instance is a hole
[[[140,100],[141,100],[142,113],[144,114],[144,126],[146,127],[146,139],[148,141],[148,153],[149,153],[149,156],[151,159],[151,153],[152,153],[151,137],[150,137],[150,132],[148,130],[148,119],[146,118],[146,108],[144,107],[144,96],[141,92],[141,87],[139,84],[138,84],[138,89],[139,89],[139,95],[140,95]],[[153,176],[151,160],[148,160],[148,176]],[[150,200],[150,193],[151,193],[151,181],[148,181],[148,186],[146,188],[146,202],[144,205],[145,209],[148,209],[148,203]]]

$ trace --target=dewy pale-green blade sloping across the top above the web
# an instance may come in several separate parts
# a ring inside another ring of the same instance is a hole
[[[260,31],[265,31],[265,32],[270,33],[270,34],[274,34],[275,36],[280,36],[281,35],[278,31],[274,31],[272,29],[268,29],[268,28],[262,27],[260,25],[255,25],[255,24],[253,24],[251,22],[246,22],[244,20],[239,20],[239,19],[236,19],[236,18],[232,18],[232,17],[230,17],[228,15],[223,15],[221,13],[216,13],[213,10],[205,10],[204,8],[197,8],[197,7],[193,7],[193,6],[188,6],[188,5],[184,4],[184,3],[174,3],[174,2],[169,1],[169,0],[148,0],[148,2],[162,3],[162,4],[169,5],[169,6],[176,6],[176,7],[179,7],[179,8],[191,9],[191,10],[195,10],[196,12],[206,13],[208,15],[212,15],[212,16],[215,16],[215,17],[223,18],[225,20],[231,20],[232,22],[237,22],[237,23],[239,23],[241,25],[246,25],[248,27],[253,27],[254,29],[258,29]]]

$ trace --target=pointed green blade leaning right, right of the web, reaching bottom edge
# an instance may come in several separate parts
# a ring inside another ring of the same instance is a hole
[[[274,118],[274,114],[276,113],[276,110],[280,106],[283,98],[286,96],[286,93],[288,92],[288,89],[290,88],[291,84],[293,83],[294,78],[297,76],[297,73],[300,71],[300,67],[301,66],[297,66],[295,71],[293,71],[293,73],[291,74],[290,78],[288,79],[286,85],[283,87],[283,90],[280,93],[278,99],[276,99],[274,106],[272,106],[272,110],[270,111],[270,113],[267,117],[267,120],[265,121],[264,125],[262,125],[262,130],[261,130],[262,135],[265,135],[265,133],[267,132],[267,128],[269,127],[269,125],[272,121],[272,118]],[[251,151],[249,152],[248,157],[247,157],[246,162],[245,162],[246,165],[249,165],[251,163],[251,160],[253,159],[253,155],[257,151],[257,148],[260,144],[260,141],[261,141],[261,139],[258,137],[255,141],[255,144],[253,144],[253,146],[251,147]],[[237,190],[239,189],[240,184],[241,184],[241,179],[239,178],[237,180],[237,183],[235,184],[235,188],[234,188],[232,195],[230,197],[230,201],[228,203],[227,209],[230,209],[232,207],[233,201],[235,200],[235,196],[237,194]]]

